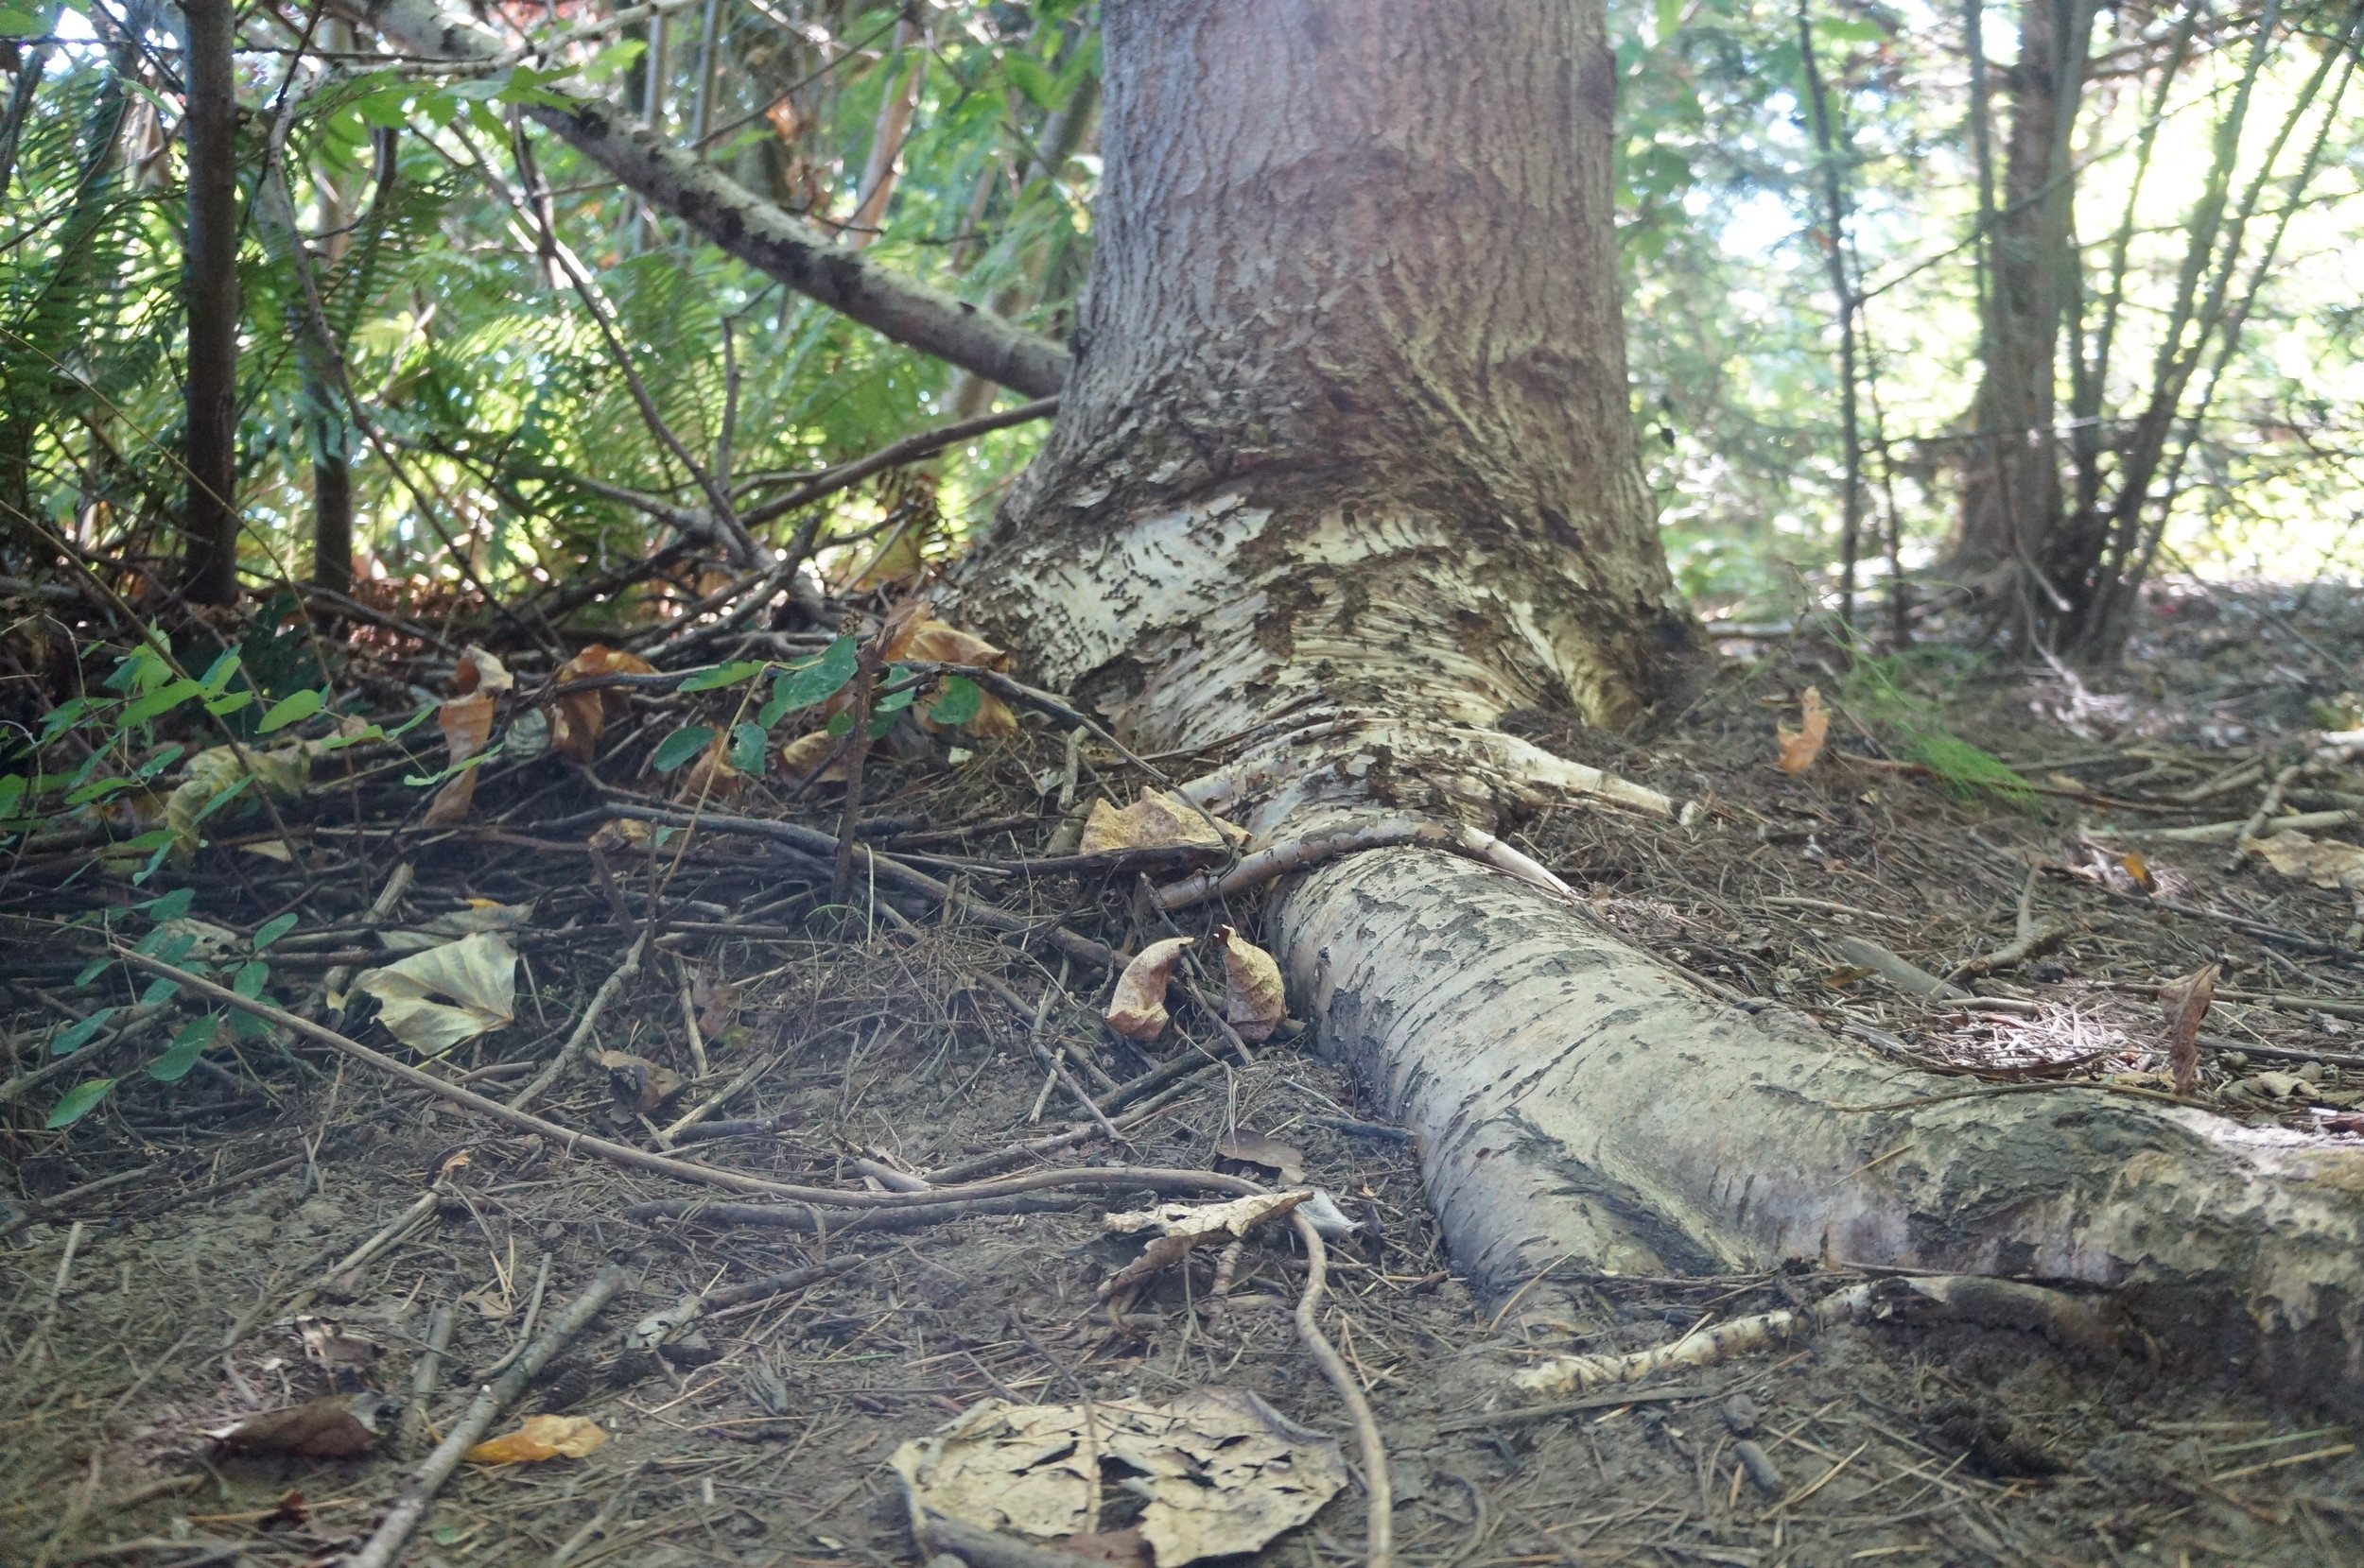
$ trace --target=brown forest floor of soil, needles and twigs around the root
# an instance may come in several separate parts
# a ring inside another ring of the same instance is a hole
[[[1733,647],[1745,656],[1726,678],[1648,741],[1525,725],[1577,760],[1702,801],[1688,827],[1572,803],[1520,824],[1515,841],[1669,966],[1794,1006],[1839,1048],[1957,1072],[1964,1091],[2040,1093],[2095,1074],[2168,1091],[2156,987],[2217,963],[2194,1093],[2246,1122],[2359,1138],[2364,959],[2350,895],[2255,855],[2227,869],[2232,843],[2156,831],[2258,808],[2251,765],[2272,777],[2321,727],[2310,701],[2357,685],[2364,614],[2347,593],[2293,605],[2284,590],[2191,583],[2161,588],[2154,609],[2128,666],[2085,680],[1943,647],[1846,675],[1806,642]],[[1837,723],[1823,758],[1785,775],[1775,720],[1794,723],[1808,682]],[[1938,723],[2052,793],[1967,784],[1957,753],[1929,749]],[[1915,744],[1960,793],[1912,770]],[[960,767],[889,767],[870,782],[870,836],[913,860],[1040,855],[1059,767],[1045,732],[981,746]],[[1080,798],[1130,793],[1113,753],[1087,744],[1083,767]],[[603,772],[624,782],[626,770]],[[2298,810],[2364,805],[2338,793],[2364,793],[2357,782],[2310,777],[2305,789]],[[806,810],[834,827],[813,801],[764,793],[752,786],[730,810]],[[511,935],[530,971],[518,1023],[435,1065],[506,1096],[631,947],[586,869],[591,805],[556,763],[487,770],[468,824],[338,838],[326,815],[310,867],[201,862],[199,914],[251,930],[277,907],[258,881],[310,871],[307,923],[359,930],[397,850],[416,881],[388,928],[423,928],[468,900],[530,904]],[[1709,1280],[1556,1275],[1589,1306],[1579,1322],[1504,1313],[1454,1275],[1416,1155],[1383,1108],[1298,1048],[1317,1041],[1272,1041],[1241,1063],[1177,1008],[1175,1030],[1137,1051],[1102,1030],[1097,975],[1057,985],[1057,954],[1045,966],[922,904],[844,921],[811,897],[782,902],[787,871],[754,841],[702,831],[664,850],[676,852],[667,935],[596,1044],[688,1086],[643,1122],[624,1098],[645,1067],[622,1079],[582,1067],[537,1115],[657,1148],[652,1126],[761,1067],[709,1115],[728,1117],[728,1136],[681,1136],[676,1152],[775,1181],[858,1183],[856,1162],[872,1181],[941,1174],[1087,1126],[1069,1119],[1080,1108],[1064,1089],[1045,1096],[1035,1044],[1109,1079],[1196,1063],[1173,1079],[1177,1093],[1097,1093],[1137,1117],[1123,1124],[1130,1150],[1078,1138],[1040,1164],[1208,1169],[1234,1129],[1303,1157],[1305,1178],[1359,1223],[1331,1247],[1324,1325],[1378,1412],[1407,1563],[2364,1563],[2364,1455],[2350,1429],[2194,1370],[2078,1363],[2002,1329],[1834,1327],[1619,1389],[1591,1410],[1513,1415],[1504,1374],[1544,1351],[1652,1346],[1853,1275],[1844,1259]],[[1125,881],[967,876],[981,897],[1118,947],[1165,935],[1156,916],[1135,919]],[[645,878],[624,881],[641,900]],[[7,893],[24,907],[21,881]],[[71,907],[59,897],[47,914]],[[1946,973],[2012,942],[2024,897],[2057,940],[1969,980],[2007,1011],[1901,994],[1837,949],[1868,937]],[[1189,930],[1215,919],[1191,914],[1206,919]],[[1253,907],[1225,919],[1255,928]],[[61,994],[83,954],[57,952],[43,935],[54,928],[7,921],[0,968],[26,1004],[9,1020],[17,1067],[38,1070],[57,1015],[38,1011],[33,987]],[[293,937],[279,952],[284,973],[312,982],[296,1011],[319,1015],[336,954]],[[704,1074],[686,992],[704,1018]],[[1132,1197],[1050,1190],[939,1223],[903,1216],[903,1228],[771,1204],[766,1223],[749,1223],[702,1202],[733,1195],[518,1136],[333,1051],[243,1051],[180,1084],[147,1082],[125,1058],[109,1105],[66,1133],[40,1131],[57,1086],[9,1096],[21,1103],[0,1131],[19,1185],[17,1221],[0,1211],[0,1563],[331,1561],[376,1528],[473,1389],[603,1266],[626,1268],[624,1289],[494,1431],[565,1412],[608,1440],[586,1457],[461,1466],[400,1561],[913,1563],[889,1457],[993,1398],[1163,1405],[1239,1389],[1355,1455],[1293,1332],[1305,1259],[1286,1230],[1251,1233],[1220,1304],[1201,1252],[1109,1322],[1095,1292],[1139,1237],[1106,1235],[1099,1214],[1139,1207]],[[374,1237],[374,1254],[340,1266]],[[641,1318],[683,1296],[830,1263],[797,1289],[716,1304],[657,1353],[626,1346]],[[421,1393],[437,1318],[449,1348]],[[239,1452],[206,1436],[362,1391],[409,1405],[385,1412],[359,1457]],[[1775,1471],[1766,1485],[1735,1455],[1742,1436]],[[1137,1509],[1111,1476],[1102,1528],[1121,1533]],[[1258,1561],[1350,1563],[1362,1537],[1350,1483]],[[1123,1535],[1109,1544],[1116,1561],[1125,1549]]]

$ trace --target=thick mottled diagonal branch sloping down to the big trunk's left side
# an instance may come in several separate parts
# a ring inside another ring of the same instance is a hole
[[[348,9],[364,26],[428,59],[501,54],[499,40],[442,12],[433,0],[352,0]],[[570,99],[567,109],[537,104],[527,113],[721,250],[905,347],[1028,397],[1050,397],[1066,380],[1069,357],[1057,342],[863,260],[697,153],[631,123],[612,104]]]

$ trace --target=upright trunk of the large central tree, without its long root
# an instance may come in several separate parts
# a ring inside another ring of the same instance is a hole
[[[1603,7],[1135,0],[1104,26],[1076,373],[962,614],[1161,746],[1310,694],[1487,727],[1678,690]]]

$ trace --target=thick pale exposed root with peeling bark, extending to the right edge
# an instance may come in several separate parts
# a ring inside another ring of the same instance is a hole
[[[1563,1261],[2099,1285],[2187,1365],[2364,1412],[2364,1152],[2102,1089],[1882,1110],[1964,1082],[1716,1006],[1435,852],[1321,867],[1277,930],[1291,997],[1418,1133],[1487,1292]]]

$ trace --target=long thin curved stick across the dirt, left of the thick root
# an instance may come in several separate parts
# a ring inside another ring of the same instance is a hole
[[[402,1079],[414,1089],[426,1089],[428,1093],[452,1100],[454,1105],[466,1105],[468,1110],[492,1117],[494,1122],[504,1122],[508,1126],[539,1133],[560,1150],[582,1150],[586,1155],[598,1155],[600,1159],[610,1159],[615,1164],[624,1164],[638,1171],[655,1171],[660,1176],[674,1176],[676,1181],[695,1181],[709,1188],[728,1188],[733,1193],[756,1193],[764,1197],[785,1197],[799,1204],[832,1204],[842,1209],[894,1209],[894,1207],[913,1207],[920,1202],[941,1202],[960,1197],[1002,1197],[1009,1193],[1033,1193],[1040,1188],[1059,1188],[1059,1185],[1097,1185],[1097,1188],[1135,1185],[1135,1188],[1182,1188],[1182,1190],[1196,1188],[1206,1193],[1239,1193],[1243,1197],[1267,1190],[1253,1181],[1241,1181],[1239,1176],[1217,1176],[1215,1171],[1173,1171],[1158,1167],[1035,1171],[1033,1176],[1005,1176],[1000,1181],[981,1181],[969,1188],[936,1188],[931,1193],[856,1193],[839,1188],[804,1188],[785,1181],[764,1181],[761,1176],[745,1176],[740,1171],[721,1171],[709,1164],[690,1164],[688,1159],[669,1159],[664,1155],[650,1155],[648,1150],[631,1148],[629,1143],[610,1143],[605,1138],[593,1138],[591,1133],[577,1131],[572,1126],[544,1122],[541,1117],[513,1110],[508,1105],[501,1105],[499,1100],[487,1100],[485,1096],[470,1089],[461,1089],[459,1084],[447,1084],[444,1079],[430,1072],[421,1072],[418,1067],[407,1067],[404,1063],[397,1063],[383,1051],[371,1051],[362,1041],[338,1034],[336,1030],[312,1023],[310,1018],[298,1018],[296,1013],[274,1008],[267,1001],[251,1001],[246,997],[239,997],[227,985],[215,985],[203,975],[191,975],[184,968],[158,963],[147,954],[137,954],[130,949],[118,949],[118,956],[125,963],[142,968],[151,975],[163,975],[165,980],[180,980],[187,989],[196,992],[199,997],[220,1001],[222,1006],[229,1008],[239,1008],[241,1013],[251,1013],[255,1018],[262,1018],[265,1023],[293,1030],[307,1039],[317,1039],[319,1044],[343,1051],[345,1056],[359,1063],[369,1063],[378,1072]],[[423,1204],[433,1202],[433,1197],[435,1195],[430,1193],[421,1202]],[[340,1268],[348,1266],[350,1263],[343,1263]],[[336,1270],[331,1270],[331,1275]]]

